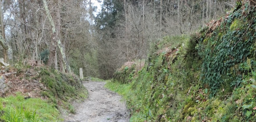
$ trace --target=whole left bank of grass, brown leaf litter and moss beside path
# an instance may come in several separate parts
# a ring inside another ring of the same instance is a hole
[[[70,102],[87,91],[74,74],[24,60],[0,66],[0,121],[63,121],[60,110],[72,112]]]

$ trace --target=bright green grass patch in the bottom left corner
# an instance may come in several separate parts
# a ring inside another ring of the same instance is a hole
[[[21,93],[0,98],[1,121],[63,121],[54,104],[41,98],[24,99]]]

